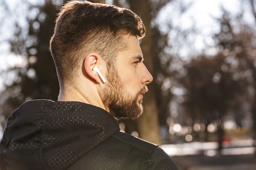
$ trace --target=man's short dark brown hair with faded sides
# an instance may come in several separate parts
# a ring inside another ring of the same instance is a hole
[[[144,37],[141,18],[129,9],[88,1],[67,2],[56,19],[50,50],[60,85],[74,83],[82,61],[90,52],[98,52],[107,66],[125,49],[123,35]]]

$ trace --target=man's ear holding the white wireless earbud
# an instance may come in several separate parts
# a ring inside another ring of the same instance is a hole
[[[89,77],[94,79],[97,83],[101,83],[101,79],[99,75],[93,71],[94,66],[98,66],[97,63],[99,63],[99,60],[101,59],[101,56],[99,56],[98,53],[90,53],[86,56],[85,62],[84,62],[84,68],[85,72]]]

